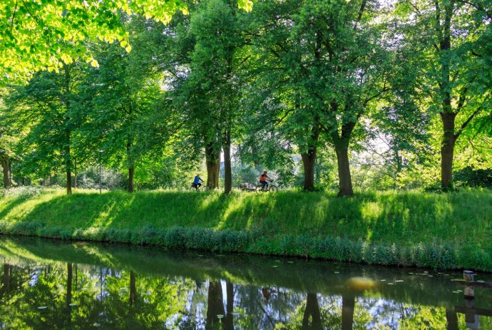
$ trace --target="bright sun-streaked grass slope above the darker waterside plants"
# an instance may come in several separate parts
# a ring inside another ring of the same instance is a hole
[[[38,232],[56,227],[65,237],[77,237],[78,232],[97,238],[106,235],[104,230],[113,230],[125,233],[121,242],[128,241],[131,232],[179,226],[255,232],[272,242],[293,235],[400,247],[453,244],[492,251],[492,192],[478,189],[448,194],[359,192],[353,198],[296,191],[223,195],[162,190],[99,195],[78,190],[67,196],[63,190],[48,190],[1,197],[0,217],[0,230],[6,233],[15,233],[16,226],[31,226],[31,231]]]

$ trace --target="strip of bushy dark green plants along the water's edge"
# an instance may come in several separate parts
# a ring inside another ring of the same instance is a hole
[[[194,249],[210,252],[265,254],[304,257],[396,267],[432,269],[470,269],[492,272],[492,252],[472,245],[449,242],[432,244],[381,244],[340,237],[313,238],[307,235],[277,234],[267,237],[261,231],[211,230],[202,227],[143,227],[116,230],[90,227],[70,230],[39,222],[10,225],[0,222],[0,234],[31,236],[67,241],[153,245],[165,249]]]

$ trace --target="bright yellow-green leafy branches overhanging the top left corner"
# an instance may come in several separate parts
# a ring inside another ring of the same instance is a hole
[[[250,11],[251,0],[238,0]],[[82,59],[98,61],[86,41],[118,42],[131,50],[125,16],[140,14],[168,24],[178,11],[188,14],[180,0],[4,0],[0,2],[0,84],[26,81],[36,71],[58,72]]]

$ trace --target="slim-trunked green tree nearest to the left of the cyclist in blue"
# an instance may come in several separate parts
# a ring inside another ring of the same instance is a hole
[[[85,143],[103,150],[103,160],[111,166],[128,170],[128,192],[133,192],[135,165],[140,148],[137,136],[142,128],[139,118],[149,113],[160,97],[160,76],[155,63],[150,61],[153,49],[145,45],[147,25],[135,17],[128,28],[131,39],[140,47],[125,53],[120,47],[93,46],[93,53],[100,58],[101,66],[91,68],[83,81],[83,108],[81,130],[90,132]],[[144,40],[141,40],[144,39]],[[143,128],[145,130],[145,128]]]

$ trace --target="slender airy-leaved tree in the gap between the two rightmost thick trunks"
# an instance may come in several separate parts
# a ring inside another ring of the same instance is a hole
[[[386,34],[394,44],[398,44],[400,36],[397,29]],[[409,61],[409,58],[412,60]],[[399,45],[394,50],[393,66],[388,78],[391,90],[381,97],[376,104],[376,111],[369,117],[368,131],[372,140],[363,146],[382,158],[381,174],[392,181],[388,187],[399,185],[403,170],[413,170],[416,163],[429,158],[426,149],[430,143],[431,116],[419,104],[420,96],[416,90],[421,84],[421,77],[414,70],[423,61],[423,58],[416,56],[412,45]],[[382,182],[376,182],[376,185],[384,186]]]

